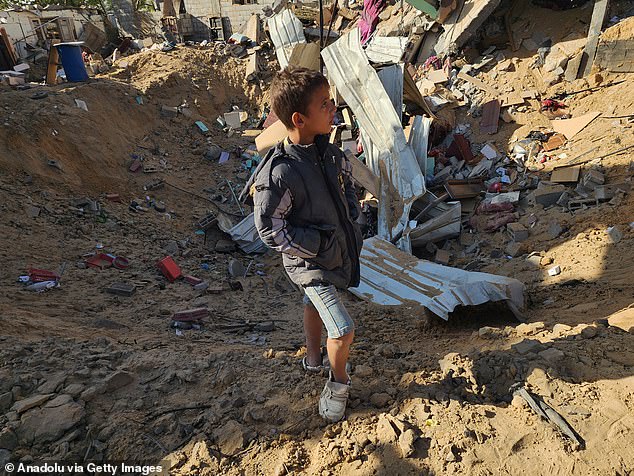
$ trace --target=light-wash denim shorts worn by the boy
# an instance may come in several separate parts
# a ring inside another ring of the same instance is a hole
[[[354,322],[333,285],[308,286],[304,293],[304,304],[317,310],[329,338],[338,339],[354,330]]]

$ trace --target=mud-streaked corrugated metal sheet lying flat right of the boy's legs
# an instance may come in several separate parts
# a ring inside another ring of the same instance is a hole
[[[424,306],[445,320],[457,306],[489,301],[524,308],[524,284],[517,279],[420,260],[376,236],[363,243],[361,283],[350,292],[386,306]]]

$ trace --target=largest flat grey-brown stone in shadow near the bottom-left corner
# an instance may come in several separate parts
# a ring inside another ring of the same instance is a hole
[[[84,407],[74,402],[31,410],[22,416],[17,430],[18,439],[26,444],[56,441],[66,431],[78,425],[85,413]]]

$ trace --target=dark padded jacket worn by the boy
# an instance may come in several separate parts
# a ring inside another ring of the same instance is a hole
[[[258,233],[282,252],[293,282],[359,285],[363,239],[352,165],[326,136],[308,146],[280,142],[258,166],[251,189]]]

